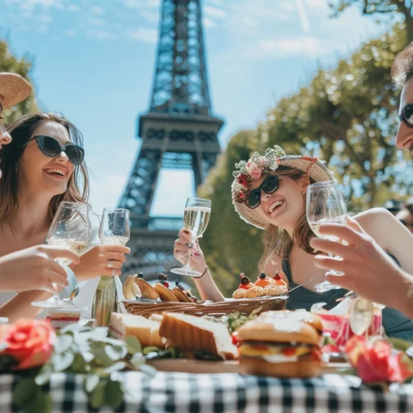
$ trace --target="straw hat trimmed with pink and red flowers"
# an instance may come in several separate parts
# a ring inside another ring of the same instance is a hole
[[[264,156],[255,152],[249,160],[242,160],[235,165],[238,171],[233,172],[234,180],[231,185],[235,211],[248,224],[266,229],[268,222],[261,218],[257,209],[248,208],[244,202],[251,188],[251,182],[260,179],[262,173],[276,171],[280,165],[302,171],[317,182],[335,180],[325,163],[311,156],[287,156],[279,146],[266,149]]]

